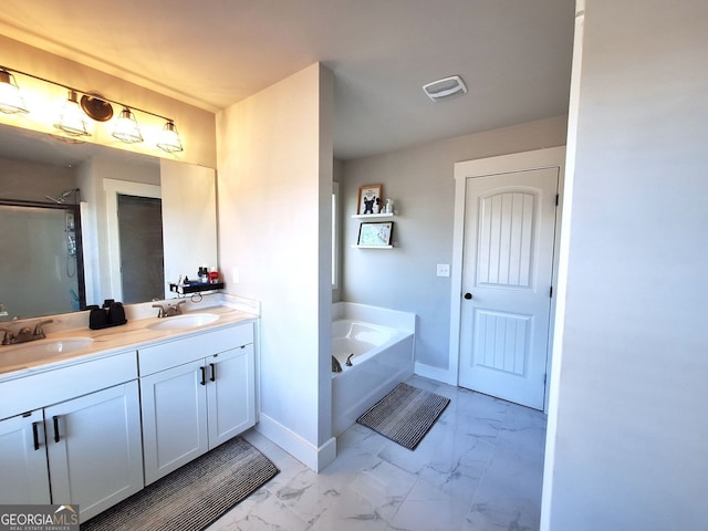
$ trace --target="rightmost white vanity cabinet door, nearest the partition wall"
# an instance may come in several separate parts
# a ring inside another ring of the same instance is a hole
[[[236,437],[256,424],[253,345],[207,358],[209,447]]]

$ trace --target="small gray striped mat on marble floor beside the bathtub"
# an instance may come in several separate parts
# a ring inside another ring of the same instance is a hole
[[[356,421],[415,450],[449,403],[449,398],[402,383]]]

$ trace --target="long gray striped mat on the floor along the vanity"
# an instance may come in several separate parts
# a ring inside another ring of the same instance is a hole
[[[279,472],[237,437],[81,524],[81,531],[205,529]]]

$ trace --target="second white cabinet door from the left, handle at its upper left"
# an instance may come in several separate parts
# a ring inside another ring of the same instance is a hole
[[[53,503],[81,521],[143,488],[137,381],[44,408]]]

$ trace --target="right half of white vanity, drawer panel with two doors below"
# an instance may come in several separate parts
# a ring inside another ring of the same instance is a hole
[[[138,351],[145,485],[256,424],[253,324]]]

